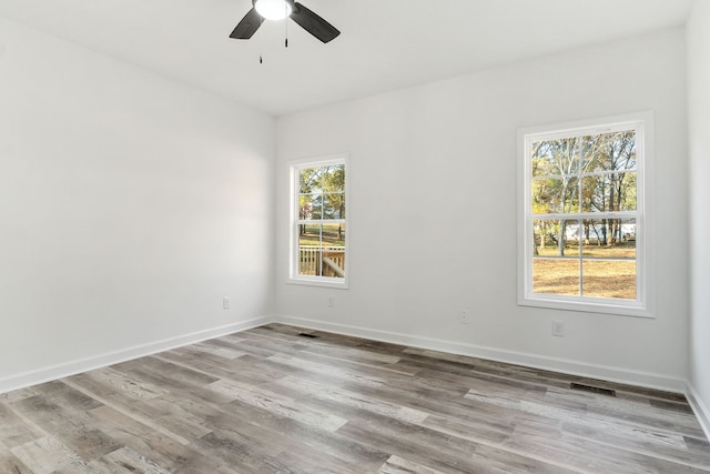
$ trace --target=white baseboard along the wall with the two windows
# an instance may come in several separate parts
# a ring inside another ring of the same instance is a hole
[[[356,337],[365,337],[375,341],[408,345],[413,347],[433,351],[448,352],[471,357],[486,359],[532,369],[560,372],[570,375],[598,379],[647,389],[662,390],[673,393],[686,393],[687,383],[681,379],[655,374],[649,372],[632,371],[623,367],[611,367],[588,364],[580,361],[547,357],[521,352],[504,351],[462,342],[445,341],[433,337],[424,337],[414,334],[372,330],[367,327],[352,326],[347,324],[328,323],[325,321],[310,320],[305,317],[276,315],[275,322],[302,326],[313,330],[327,331]]]

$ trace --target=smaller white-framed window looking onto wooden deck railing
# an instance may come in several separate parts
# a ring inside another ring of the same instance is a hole
[[[345,288],[345,158],[291,167],[291,281]]]

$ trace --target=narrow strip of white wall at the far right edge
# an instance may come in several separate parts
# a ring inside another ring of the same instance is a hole
[[[688,22],[690,154],[690,383],[710,436],[710,2],[696,1]]]

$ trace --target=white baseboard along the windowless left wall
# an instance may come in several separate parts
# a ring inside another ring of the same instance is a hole
[[[191,334],[184,334],[176,337],[155,341],[148,344],[141,344],[133,347],[99,354],[92,357],[70,361],[58,365],[52,365],[38,371],[26,372],[9,377],[0,379],[0,393],[10,392],[27,386],[37,385],[62,379],[78,373],[91,371],[108,365],[118,364],[120,362],[130,361],[132,359],[155,354],[158,352],[168,351],[180,347],[182,345],[194,344],[195,342],[205,341],[207,339],[220,337],[222,335],[245,331],[271,322],[271,317],[254,317],[239,323],[227,324],[225,326],[213,327],[205,331],[197,331]]]

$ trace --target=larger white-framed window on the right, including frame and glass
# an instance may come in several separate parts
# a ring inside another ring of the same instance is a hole
[[[651,119],[520,131],[520,304],[651,315]]]

